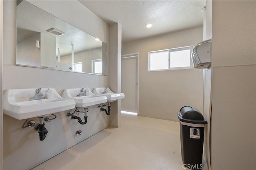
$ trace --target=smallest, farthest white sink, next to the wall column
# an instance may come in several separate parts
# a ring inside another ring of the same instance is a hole
[[[99,96],[106,96],[108,102],[116,101],[117,99],[124,99],[124,93],[114,93],[107,87],[107,93],[104,93],[105,87],[94,88],[93,93]]]

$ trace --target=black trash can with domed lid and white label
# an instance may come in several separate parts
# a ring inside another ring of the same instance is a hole
[[[183,167],[200,170],[202,166],[204,127],[207,121],[197,109],[184,106],[178,112]]]

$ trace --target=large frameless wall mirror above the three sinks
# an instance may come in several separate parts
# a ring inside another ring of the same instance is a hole
[[[25,0],[16,16],[16,65],[106,75],[106,43]]]

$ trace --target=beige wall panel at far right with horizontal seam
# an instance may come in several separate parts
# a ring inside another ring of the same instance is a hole
[[[212,169],[256,169],[256,1],[212,1]]]

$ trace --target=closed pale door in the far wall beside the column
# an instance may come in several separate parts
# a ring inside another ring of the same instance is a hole
[[[138,115],[138,53],[122,55],[121,112]]]

